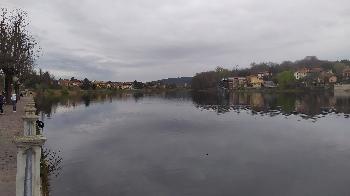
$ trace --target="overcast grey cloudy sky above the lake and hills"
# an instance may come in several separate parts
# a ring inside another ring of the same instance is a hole
[[[349,0],[0,0],[58,77],[149,81],[221,65],[350,58]]]

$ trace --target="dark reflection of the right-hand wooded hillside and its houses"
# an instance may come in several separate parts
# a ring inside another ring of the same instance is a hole
[[[318,115],[350,113],[349,96],[335,96],[333,93],[196,93],[192,95],[196,107],[215,110],[218,114],[249,110],[254,114],[270,116],[299,115],[314,118]]]

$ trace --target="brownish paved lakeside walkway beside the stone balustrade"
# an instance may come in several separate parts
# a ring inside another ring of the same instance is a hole
[[[28,101],[22,98],[17,104],[17,112],[12,106],[5,106],[5,114],[0,115],[0,196],[16,195],[16,158],[17,149],[12,142],[23,130],[24,105]]]

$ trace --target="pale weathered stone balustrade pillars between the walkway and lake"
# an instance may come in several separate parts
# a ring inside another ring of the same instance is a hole
[[[46,141],[42,132],[37,132],[35,104],[31,100],[25,107],[23,135],[15,137],[17,145],[16,196],[40,196],[41,147]]]

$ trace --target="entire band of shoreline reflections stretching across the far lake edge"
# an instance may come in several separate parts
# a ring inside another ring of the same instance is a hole
[[[303,118],[319,118],[335,113],[349,118],[350,94],[332,92],[310,93],[191,93],[191,92],[162,92],[162,93],[117,93],[117,94],[86,94],[73,97],[38,97],[39,111],[50,117],[60,106],[75,108],[80,105],[89,107],[90,104],[125,101],[133,99],[135,102],[144,97],[161,99],[191,100],[195,107],[213,110],[218,114],[226,112],[250,111],[252,115],[299,115]]]

